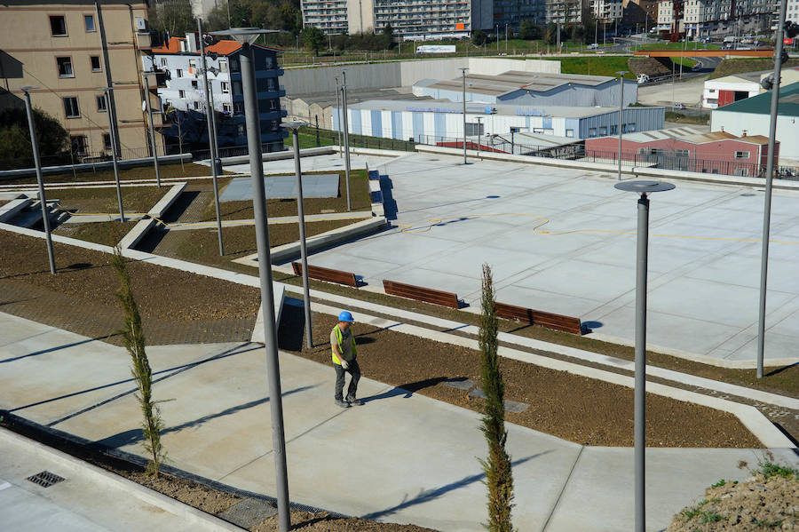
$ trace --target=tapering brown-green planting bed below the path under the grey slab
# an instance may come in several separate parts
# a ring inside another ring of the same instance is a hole
[[[305,236],[322,234],[339,227],[352,224],[352,220],[327,220],[320,222],[306,222]],[[176,232],[177,233],[177,232]],[[184,233],[183,231],[179,233]],[[202,229],[191,232],[191,238],[186,238],[177,249],[177,258],[199,262],[209,266],[227,267],[232,264],[233,258],[240,258],[251,253],[257,253],[255,242],[255,226],[223,227],[222,239],[225,244],[225,257],[219,257],[219,243],[216,228]],[[274,248],[299,240],[298,224],[270,224],[269,246]],[[257,269],[241,265],[235,268],[257,275]]]

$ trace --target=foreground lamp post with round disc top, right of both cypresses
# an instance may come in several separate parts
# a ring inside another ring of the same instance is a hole
[[[635,387],[635,532],[645,532],[645,405],[646,405],[646,269],[649,246],[648,194],[671,190],[671,183],[626,181],[614,187],[640,194],[638,199],[636,270],[636,387]]]

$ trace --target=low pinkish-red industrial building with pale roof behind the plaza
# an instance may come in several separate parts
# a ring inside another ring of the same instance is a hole
[[[640,131],[621,138],[621,158],[641,166],[668,170],[698,171],[735,176],[757,176],[768,161],[769,139],[763,135],[741,137],[725,131],[710,133],[679,127]],[[591,160],[617,160],[618,137],[585,140],[585,155]],[[774,146],[774,163],[779,142]]]

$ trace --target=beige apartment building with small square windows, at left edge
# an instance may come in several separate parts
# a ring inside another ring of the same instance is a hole
[[[105,28],[107,59],[100,23]],[[121,156],[147,156],[150,143],[141,71],[142,56],[151,48],[146,2],[3,0],[0,107],[24,105],[17,87],[36,87],[30,91],[33,106],[56,117],[69,131],[76,158],[110,155],[107,106],[103,92],[97,90],[108,86],[110,67]],[[162,115],[154,84],[153,79],[150,102],[158,131]],[[162,152],[161,135],[156,135],[156,143]]]

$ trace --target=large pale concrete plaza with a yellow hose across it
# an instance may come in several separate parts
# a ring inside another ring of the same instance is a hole
[[[393,228],[316,253],[312,265],[377,286],[390,279],[454,291],[474,305],[487,262],[497,300],[578,316],[597,337],[632,340],[637,195],[613,188],[614,175],[464,166],[448,155],[366,159],[385,176]],[[308,157],[303,168],[340,161]],[[266,171],[291,164],[267,163]],[[651,199],[649,344],[754,361],[763,191],[678,181]],[[766,360],[799,360],[799,193],[774,193],[771,240]]]

